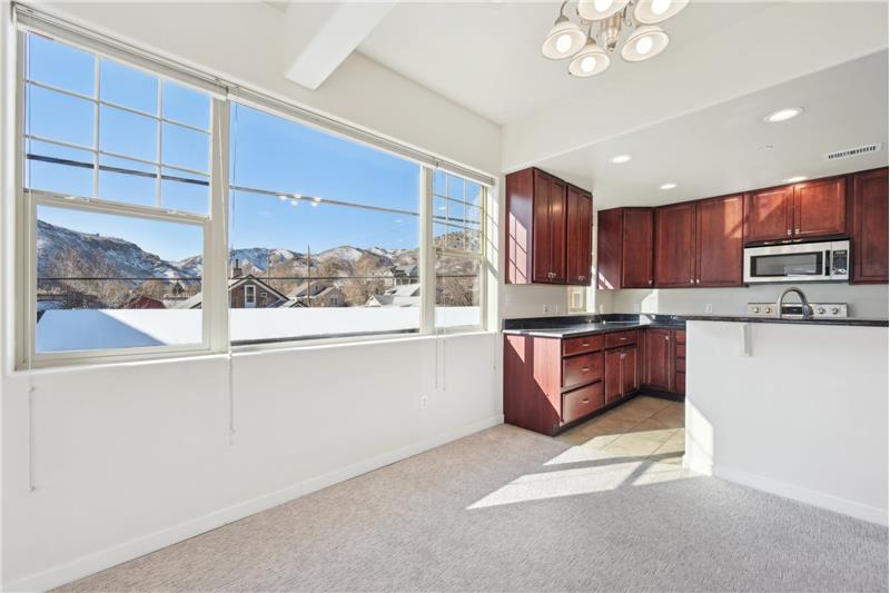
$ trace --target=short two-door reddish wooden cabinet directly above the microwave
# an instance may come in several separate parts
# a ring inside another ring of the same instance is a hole
[[[847,233],[847,181],[832,177],[745,196],[744,243],[831,237]]]

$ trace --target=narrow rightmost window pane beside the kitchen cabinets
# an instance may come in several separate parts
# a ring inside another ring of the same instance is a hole
[[[436,327],[482,325],[485,188],[461,177],[433,176]]]

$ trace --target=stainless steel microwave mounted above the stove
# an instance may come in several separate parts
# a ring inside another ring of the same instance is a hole
[[[850,279],[850,241],[745,247],[744,281],[825,283]]]

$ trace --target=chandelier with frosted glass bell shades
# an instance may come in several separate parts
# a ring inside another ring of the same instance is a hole
[[[572,58],[568,73],[589,77],[609,68],[623,30],[632,29],[621,47],[626,61],[640,62],[664,51],[670,38],[657,23],[683,10],[689,0],[578,0],[580,24],[565,16],[567,3],[560,7],[541,52],[551,60]]]

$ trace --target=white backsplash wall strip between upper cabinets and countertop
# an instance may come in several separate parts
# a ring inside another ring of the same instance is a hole
[[[790,285],[789,285],[790,286]],[[813,303],[848,303],[851,317],[887,319],[888,289],[886,284],[799,284],[807,299]],[[706,305],[716,314],[744,314],[748,303],[775,303],[785,285],[759,285],[748,288],[662,288],[655,290],[597,290],[611,295],[612,313],[694,314],[705,313]],[[606,297],[607,298],[607,297]],[[600,299],[606,303],[606,298]],[[797,297],[791,296],[793,302]]]

